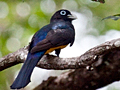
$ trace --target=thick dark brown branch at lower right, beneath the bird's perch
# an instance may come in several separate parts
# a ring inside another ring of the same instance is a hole
[[[49,77],[34,90],[96,90],[120,80],[120,49],[102,56],[99,66],[70,70],[58,77]]]

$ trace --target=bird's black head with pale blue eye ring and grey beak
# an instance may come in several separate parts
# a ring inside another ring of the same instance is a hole
[[[70,11],[65,10],[65,9],[61,9],[57,12],[55,12],[55,14],[51,17],[50,22],[56,22],[58,20],[64,20],[64,21],[69,21],[71,22],[72,20],[76,19],[76,17],[74,17]]]

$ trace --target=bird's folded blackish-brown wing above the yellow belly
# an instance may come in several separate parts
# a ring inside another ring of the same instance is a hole
[[[74,42],[74,32],[68,29],[56,29],[48,32],[45,39],[38,42],[36,46],[31,49],[31,53],[42,50],[48,50],[53,47],[67,45]]]

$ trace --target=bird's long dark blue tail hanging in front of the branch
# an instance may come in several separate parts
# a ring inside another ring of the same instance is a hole
[[[32,71],[38,61],[41,59],[41,57],[44,55],[43,52],[38,52],[35,54],[29,53],[27,56],[26,61],[24,62],[17,78],[13,82],[13,84],[10,86],[11,89],[20,89],[24,88],[29,82],[30,82],[30,77],[32,74]]]

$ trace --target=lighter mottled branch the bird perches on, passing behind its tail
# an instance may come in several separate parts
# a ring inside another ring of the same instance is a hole
[[[101,64],[99,58],[104,56],[111,50],[117,50],[120,48],[120,38],[112,41],[105,42],[99,46],[96,46],[83,55],[73,58],[59,58],[53,55],[44,55],[39,61],[37,67],[45,69],[77,69],[86,66],[92,66],[93,64]],[[3,58],[0,58],[0,71],[14,66],[19,63],[23,63],[27,57],[27,47],[21,48],[14,53],[10,53]]]

